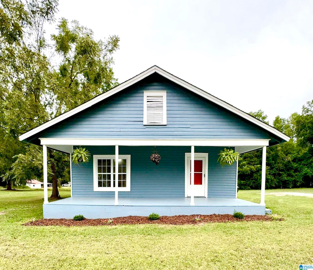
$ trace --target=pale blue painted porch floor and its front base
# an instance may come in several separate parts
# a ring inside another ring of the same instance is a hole
[[[265,206],[235,198],[196,197],[195,206],[190,206],[190,198],[119,198],[119,205],[114,205],[114,198],[70,197],[44,204],[44,218],[115,218],[152,212],[160,216],[233,214],[234,210],[245,215],[265,214]]]

